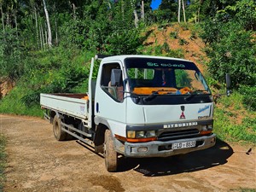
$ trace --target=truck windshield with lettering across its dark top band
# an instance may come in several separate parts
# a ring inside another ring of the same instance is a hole
[[[201,72],[191,61],[127,58],[125,67],[130,91],[137,95],[211,94]]]

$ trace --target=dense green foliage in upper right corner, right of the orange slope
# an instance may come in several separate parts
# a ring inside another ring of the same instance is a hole
[[[244,104],[255,110],[256,3],[222,2],[225,6],[218,7],[214,15],[202,22],[201,38],[208,44],[207,55],[211,59],[208,70],[213,79],[221,82],[225,73],[230,73],[233,88],[241,87]]]

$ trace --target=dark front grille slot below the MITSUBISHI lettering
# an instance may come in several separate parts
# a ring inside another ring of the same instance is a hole
[[[175,139],[198,137],[200,132],[197,129],[179,130],[179,131],[166,131],[160,133],[159,141],[170,141]]]

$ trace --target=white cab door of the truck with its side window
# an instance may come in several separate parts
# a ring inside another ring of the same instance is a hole
[[[116,71],[120,79],[116,78]],[[115,79],[115,83],[113,80]],[[124,73],[119,62],[105,63],[100,67],[96,85],[95,116],[98,122],[108,125],[113,132],[125,136]]]

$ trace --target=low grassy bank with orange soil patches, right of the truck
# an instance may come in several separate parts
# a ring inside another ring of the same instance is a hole
[[[256,143],[256,112],[247,111],[242,96],[234,92],[218,100],[214,113],[214,132],[222,140]]]

